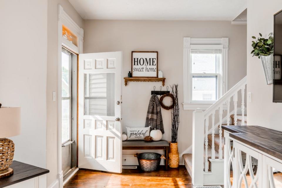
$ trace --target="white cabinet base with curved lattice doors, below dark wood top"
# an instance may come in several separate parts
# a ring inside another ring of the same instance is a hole
[[[278,188],[273,171],[282,172],[282,160],[230,137],[224,130],[224,188]]]

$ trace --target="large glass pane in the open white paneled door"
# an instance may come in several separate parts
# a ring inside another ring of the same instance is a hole
[[[84,74],[84,114],[115,116],[115,73]]]

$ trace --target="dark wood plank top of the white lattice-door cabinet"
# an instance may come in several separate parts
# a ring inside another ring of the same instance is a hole
[[[282,132],[260,126],[222,126],[229,136],[282,160]]]

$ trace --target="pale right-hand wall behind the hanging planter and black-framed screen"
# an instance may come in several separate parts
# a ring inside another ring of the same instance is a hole
[[[275,130],[282,131],[282,103],[272,103],[272,87],[266,85],[265,76],[261,61],[257,57],[252,57],[251,41],[252,36],[267,37],[273,32],[273,14],[282,9],[281,0],[270,1],[270,6],[264,6],[263,11],[258,13],[257,10],[265,4],[263,0],[248,0],[248,32],[247,32],[247,75],[248,75],[248,92],[252,93],[252,102],[248,102],[248,125],[259,125]]]

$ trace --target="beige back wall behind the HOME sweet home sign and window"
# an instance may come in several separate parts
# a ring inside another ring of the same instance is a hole
[[[230,21],[84,21],[84,53],[122,51],[122,76],[131,70],[131,51],[158,51],[159,70],[166,86],[179,84],[180,125],[179,153],[192,144],[192,111],[183,110],[183,37],[229,37],[229,88],[246,76],[246,25]],[[123,81],[123,80],[122,80]],[[122,124],[143,127],[151,90],[161,83],[129,82],[122,85]],[[170,111],[162,109],[163,139],[171,139]],[[134,151],[124,151],[132,154]]]

